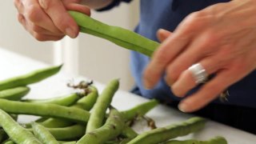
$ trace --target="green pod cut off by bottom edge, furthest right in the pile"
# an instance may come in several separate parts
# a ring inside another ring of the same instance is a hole
[[[194,139],[185,141],[171,140],[165,142],[164,144],[227,144],[227,142],[225,138],[218,136],[215,138],[211,138],[209,141],[198,141]]]

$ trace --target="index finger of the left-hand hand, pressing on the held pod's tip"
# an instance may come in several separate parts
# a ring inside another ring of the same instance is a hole
[[[65,6],[60,0],[39,0],[40,6],[49,15],[54,22],[54,25],[58,27],[64,34],[75,38],[78,35],[78,25],[67,13]]]

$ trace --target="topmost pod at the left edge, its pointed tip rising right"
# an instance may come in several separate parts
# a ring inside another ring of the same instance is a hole
[[[0,90],[6,90],[18,86],[26,86],[35,82],[40,82],[61,70],[61,66],[50,66],[40,70],[34,70],[29,74],[20,75],[14,78],[8,78],[0,82]]]

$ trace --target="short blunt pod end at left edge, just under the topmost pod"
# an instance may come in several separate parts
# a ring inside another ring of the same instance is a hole
[[[26,86],[14,87],[7,90],[0,91],[0,98],[5,98],[9,100],[19,101],[26,94],[30,92],[30,88]]]

